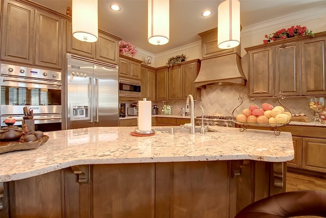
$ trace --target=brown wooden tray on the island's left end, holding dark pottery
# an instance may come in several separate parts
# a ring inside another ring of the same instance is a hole
[[[12,152],[12,151],[35,149],[39,147],[41,144],[47,142],[48,139],[49,137],[47,135],[43,135],[42,137],[37,138],[35,141],[26,141],[26,142],[21,142],[19,140],[1,141],[0,154],[6,152]]]

